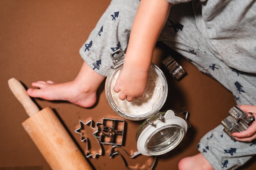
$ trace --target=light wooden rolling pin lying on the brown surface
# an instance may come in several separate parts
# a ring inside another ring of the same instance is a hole
[[[52,170],[92,170],[53,110],[39,110],[17,79],[9,79],[8,84],[29,115],[22,126]]]

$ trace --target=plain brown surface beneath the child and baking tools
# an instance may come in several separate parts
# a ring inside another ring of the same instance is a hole
[[[15,77],[27,87],[37,80],[67,82],[74,79],[83,62],[79,49],[109,3],[110,0],[0,1],[0,170],[51,169],[21,126],[28,115],[9,90],[8,79]],[[157,157],[155,170],[177,170],[177,163],[182,157],[197,154],[196,145],[200,138],[220,124],[227,117],[228,110],[236,105],[229,91],[200,73],[177,53],[157,48],[154,57],[159,58],[166,53],[177,59],[187,75],[177,82],[165,71],[169,91],[162,110],[188,110],[193,128],[188,130],[177,148]],[[154,62],[161,67],[159,60]],[[122,119],[106,102],[104,84],[99,88],[99,100],[93,108],[60,101],[35,101],[41,108],[51,106],[56,111],[82,152],[85,152],[86,143],[81,142],[80,135],[74,132],[79,128],[79,120],[97,123],[103,118]],[[122,148],[133,153],[137,151],[135,133],[142,122],[125,122]],[[102,144],[101,156],[87,158],[95,170],[125,168],[119,155],[108,157],[111,146]],[[137,163],[143,165],[148,159],[139,156],[126,161],[129,166],[135,166]],[[241,169],[254,170],[254,161],[252,159]]]

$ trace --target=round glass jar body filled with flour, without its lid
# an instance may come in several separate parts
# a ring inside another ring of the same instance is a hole
[[[146,89],[143,99],[134,99],[132,102],[128,102],[126,100],[120,100],[118,93],[114,92],[115,81],[122,68],[123,65],[115,68],[107,77],[105,84],[106,98],[114,112],[129,120],[148,119],[159,112],[166,101],[168,91],[164,73],[155,64],[151,64],[147,86],[148,91]],[[154,82],[155,78],[158,79],[157,84]],[[154,94],[150,88],[154,90]]]

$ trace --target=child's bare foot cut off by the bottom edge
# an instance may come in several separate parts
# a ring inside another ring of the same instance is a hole
[[[179,162],[179,170],[214,170],[202,153],[185,157]]]

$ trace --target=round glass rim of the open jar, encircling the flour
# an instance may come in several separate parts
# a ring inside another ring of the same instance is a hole
[[[164,73],[160,70],[159,67],[157,67],[155,64],[151,64],[150,69],[153,70],[155,73],[157,73],[157,75],[159,76],[161,83],[162,83],[162,94],[161,97],[159,99],[159,102],[157,103],[157,106],[155,108],[153,108],[152,110],[150,110],[147,113],[144,114],[129,114],[124,112],[124,110],[121,110],[121,108],[119,106],[117,106],[115,100],[112,97],[112,83],[113,82],[113,77],[123,68],[123,65],[113,69],[112,73],[110,73],[110,75],[107,77],[106,79],[106,83],[105,83],[105,95],[106,95],[106,99],[108,101],[108,104],[110,105],[110,107],[112,108],[112,110],[114,110],[114,112],[125,118],[125,119],[129,119],[129,120],[135,120],[135,121],[139,121],[139,120],[144,120],[144,119],[148,119],[150,117],[152,117],[153,115],[155,115],[155,113],[159,112],[159,110],[162,108],[162,106],[164,105],[166,98],[167,98],[167,93],[168,93],[168,87],[167,87],[167,80],[166,77],[164,75]]]

